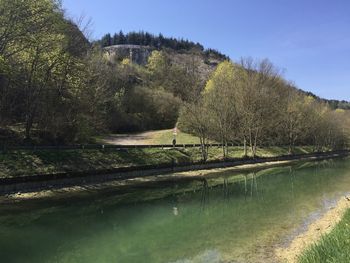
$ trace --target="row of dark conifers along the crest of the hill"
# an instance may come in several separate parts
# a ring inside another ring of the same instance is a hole
[[[214,56],[217,59],[229,59],[228,56],[222,54],[215,49],[205,49],[200,43],[193,41],[176,39],[173,37],[164,37],[161,33],[154,35],[148,32],[129,32],[124,34],[123,31],[115,34],[106,34],[97,41],[102,47],[113,45],[141,45],[149,46],[155,49],[169,48],[175,51],[199,51],[206,56]]]

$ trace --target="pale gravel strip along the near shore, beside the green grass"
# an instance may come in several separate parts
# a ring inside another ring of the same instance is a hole
[[[298,255],[310,245],[329,233],[342,219],[345,211],[350,208],[350,202],[346,197],[340,199],[335,207],[332,207],[324,216],[309,225],[306,232],[298,235],[286,248],[277,248],[276,256],[280,262],[297,262]]]

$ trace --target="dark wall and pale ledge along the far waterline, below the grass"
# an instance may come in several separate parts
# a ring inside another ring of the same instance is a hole
[[[123,188],[152,187],[152,184],[166,184],[168,182],[183,182],[193,180],[204,180],[215,178],[218,174],[232,174],[234,172],[260,171],[266,168],[284,166],[300,161],[316,161],[329,158],[346,156],[342,153],[318,153],[317,155],[299,155],[271,157],[255,160],[240,160],[232,162],[212,162],[191,166],[179,166],[168,169],[151,169],[148,171],[131,171],[131,173],[121,172],[107,175],[95,175],[85,177],[72,177],[54,179],[43,182],[21,182],[14,185],[0,184],[0,190],[6,197],[0,202],[12,200],[29,200],[41,198],[65,198],[86,193],[98,193],[103,191],[122,191]],[[177,172],[175,172],[177,170]],[[171,172],[172,171],[172,172]],[[141,174],[142,173],[142,174]],[[21,178],[25,179],[25,178]],[[40,179],[40,177],[39,177]],[[0,179],[1,183],[1,179]],[[15,186],[15,187],[14,187]],[[12,191],[9,191],[11,190]],[[15,191],[14,191],[15,190]]]

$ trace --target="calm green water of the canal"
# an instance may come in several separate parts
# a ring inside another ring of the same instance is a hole
[[[350,159],[0,206],[0,262],[275,262],[350,191]]]

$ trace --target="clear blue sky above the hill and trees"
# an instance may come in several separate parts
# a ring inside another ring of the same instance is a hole
[[[298,88],[350,100],[349,0],[63,0],[92,37],[162,33],[228,55],[268,58]]]

